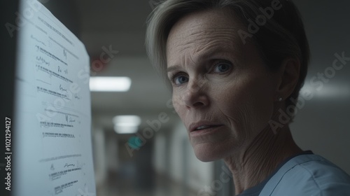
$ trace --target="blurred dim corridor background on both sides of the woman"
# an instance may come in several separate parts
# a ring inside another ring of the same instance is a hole
[[[126,92],[91,92],[97,195],[233,195],[232,180],[219,177],[227,171],[223,162],[195,158],[171,93],[146,56],[146,18],[158,2],[42,1],[85,44],[91,76],[131,81]],[[338,61],[338,66],[343,64],[339,70],[332,68],[335,54],[350,57],[350,2],[336,2],[295,1],[311,49],[302,92],[312,97],[301,94],[291,129],[304,150],[323,155],[350,174],[350,61]],[[137,116],[136,133],[120,133],[133,130],[115,125],[114,117],[125,115]]]

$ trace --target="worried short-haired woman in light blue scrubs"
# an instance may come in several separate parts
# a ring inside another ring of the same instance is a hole
[[[146,48],[195,155],[225,160],[236,195],[350,195],[350,176],[290,134],[309,61],[291,1],[165,1]]]

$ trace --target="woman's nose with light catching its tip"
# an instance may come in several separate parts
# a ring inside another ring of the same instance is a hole
[[[205,90],[204,83],[188,83],[186,92],[181,98],[188,109],[209,105],[208,92]]]

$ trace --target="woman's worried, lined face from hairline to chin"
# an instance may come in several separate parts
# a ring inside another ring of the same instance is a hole
[[[202,161],[244,149],[272,117],[275,73],[253,44],[242,43],[237,21],[223,10],[193,13],[167,39],[173,104]]]

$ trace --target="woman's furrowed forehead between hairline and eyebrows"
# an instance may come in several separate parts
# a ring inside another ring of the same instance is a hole
[[[228,25],[230,27],[228,27]],[[169,37],[172,39],[172,45],[168,45],[171,49],[168,52],[175,52],[180,57],[172,59],[175,60],[176,64],[186,65],[190,62],[195,63],[198,58],[206,57],[215,51],[216,48],[220,50],[235,52],[239,50],[239,36],[237,29],[239,25],[235,23],[228,24],[224,22],[215,23],[212,21],[206,22],[199,20],[191,24],[174,25],[175,31],[170,32]],[[168,37],[168,38],[169,38]],[[236,47],[237,46],[237,47]],[[206,51],[210,50],[210,51]],[[179,61],[178,61],[179,60]]]

